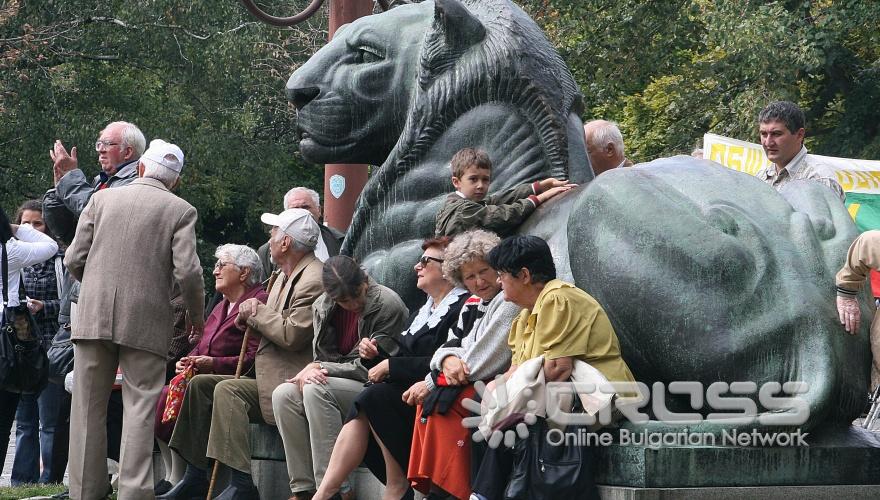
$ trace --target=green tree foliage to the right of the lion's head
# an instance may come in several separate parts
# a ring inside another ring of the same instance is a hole
[[[705,132],[757,140],[769,101],[807,113],[808,147],[880,158],[880,9],[855,0],[527,0],[585,95],[639,161]]]

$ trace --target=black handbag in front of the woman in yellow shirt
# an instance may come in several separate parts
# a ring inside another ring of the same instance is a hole
[[[575,397],[576,407],[579,398]],[[516,442],[513,448],[513,471],[504,492],[510,500],[540,500],[560,498],[599,499],[595,483],[595,450],[581,446],[578,437],[586,440],[588,426],[569,425],[553,431],[543,418],[529,426],[529,435]],[[551,443],[560,443],[558,446]],[[575,439],[572,439],[574,436]]]

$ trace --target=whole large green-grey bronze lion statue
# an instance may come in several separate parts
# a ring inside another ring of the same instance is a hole
[[[824,186],[780,194],[689,157],[593,180],[577,85],[515,4],[435,0],[359,19],[287,92],[306,159],[379,165],[343,251],[410,305],[419,244],[452,189],[449,161],[480,147],[493,191],[548,176],[581,184],[521,231],[548,240],[560,277],[603,304],[637,379],[804,381],[805,430],[848,425],[863,408],[867,327],[845,335],[833,305],[834,272],[857,234],[840,202]],[[669,395],[667,406],[690,401]]]

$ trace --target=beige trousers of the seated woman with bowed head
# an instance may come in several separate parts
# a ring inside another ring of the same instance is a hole
[[[281,384],[272,392],[272,412],[284,443],[290,491],[315,491],[324,479],[342,423],[364,383],[329,377],[326,384]],[[341,491],[350,489],[348,480]]]

